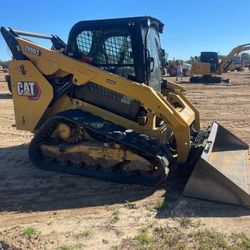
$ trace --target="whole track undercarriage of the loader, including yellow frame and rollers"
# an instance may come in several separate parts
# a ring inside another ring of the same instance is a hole
[[[29,153],[46,170],[144,185],[162,183],[170,159],[169,149],[154,139],[81,110],[48,120]]]

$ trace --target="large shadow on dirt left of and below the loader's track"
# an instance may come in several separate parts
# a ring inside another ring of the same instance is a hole
[[[134,202],[155,188],[37,169],[28,145],[0,149],[0,211],[51,211]]]

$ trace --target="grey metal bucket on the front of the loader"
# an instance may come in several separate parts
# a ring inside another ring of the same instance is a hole
[[[250,160],[246,143],[214,122],[183,194],[250,207]]]

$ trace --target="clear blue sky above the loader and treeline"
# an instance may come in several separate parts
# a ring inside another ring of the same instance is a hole
[[[250,0],[9,0],[0,3],[0,26],[55,34],[67,42],[78,21],[132,16],[161,20],[161,47],[169,59],[187,60],[201,51],[226,55],[250,43]],[[36,40],[38,41],[38,40]],[[39,41],[41,45],[48,45]],[[11,54],[0,35],[0,60]]]

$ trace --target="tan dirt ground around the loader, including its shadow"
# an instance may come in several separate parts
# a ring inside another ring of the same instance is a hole
[[[183,197],[178,181],[155,190],[34,168],[27,153],[32,134],[13,126],[12,97],[1,77],[0,249],[1,242],[3,249],[119,249],[143,227],[182,227],[183,218],[191,219],[190,230],[198,225],[250,237],[250,209]],[[225,77],[231,82],[185,78],[182,86],[202,127],[218,121],[250,144],[250,72]]]

